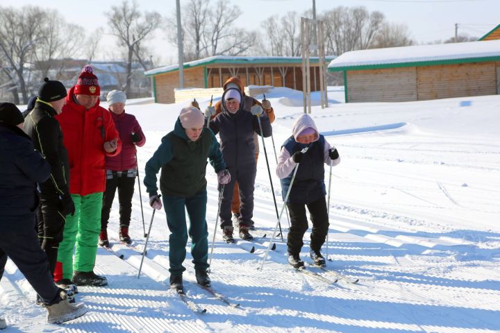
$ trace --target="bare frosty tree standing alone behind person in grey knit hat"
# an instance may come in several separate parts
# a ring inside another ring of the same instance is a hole
[[[132,62],[134,56],[140,56],[141,42],[160,26],[162,19],[158,12],[140,12],[137,1],[131,3],[124,0],[121,6],[112,6],[108,17],[111,35],[118,38],[119,45],[126,49],[126,84],[125,91],[129,94],[132,79]]]

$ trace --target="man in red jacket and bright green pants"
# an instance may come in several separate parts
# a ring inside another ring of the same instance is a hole
[[[69,159],[69,191],[74,216],[67,215],[59,245],[54,281],[105,286],[105,277],[94,273],[101,207],[106,186],[104,158],[122,151],[122,141],[110,113],[99,106],[99,82],[90,65],[83,67],[78,82],[69,89],[63,113],[58,114]],[[73,259],[73,251],[75,257]]]

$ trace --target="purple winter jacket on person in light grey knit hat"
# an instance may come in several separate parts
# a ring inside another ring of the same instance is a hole
[[[132,114],[128,114],[125,111],[122,114],[115,114],[110,111],[110,114],[113,117],[113,121],[115,121],[115,127],[122,140],[122,153],[113,157],[106,156],[106,170],[124,171],[134,169],[137,167],[135,146],[144,146],[146,137],[142,133],[142,128],[137,119]],[[132,133],[140,135],[141,139],[139,142],[135,144],[132,142]]]

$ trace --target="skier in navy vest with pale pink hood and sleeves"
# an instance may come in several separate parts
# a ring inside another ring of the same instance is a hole
[[[290,212],[290,232],[288,232],[288,263],[295,268],[303,266],[299,253],[303,246],[303,235],[308,230],[306,207],[309,210],[313,230],[310,235],[310,257],[317,266],[323,266],[325,259],[321,254],[328,232],[328,209],[324,185],[324,164],[335,166],[340,157],[335,147],[326,142],[317,131],[316,124],[308,114],[302,114],[294,123],[293,135],[281,148],[278,156],[276,174],[281,180],[283,200],[290,194],[286,205]],[[303,148],[308,148],[302,153]],[[292,181],[294,168],[299,164]]]

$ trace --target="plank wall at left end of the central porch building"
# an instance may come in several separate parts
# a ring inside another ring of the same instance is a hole
[[[205,87],[204,67],[184,69],[184,87]],[[156,76],[157,103],[175,103],[174,89],[178,88],[178,71]]]

